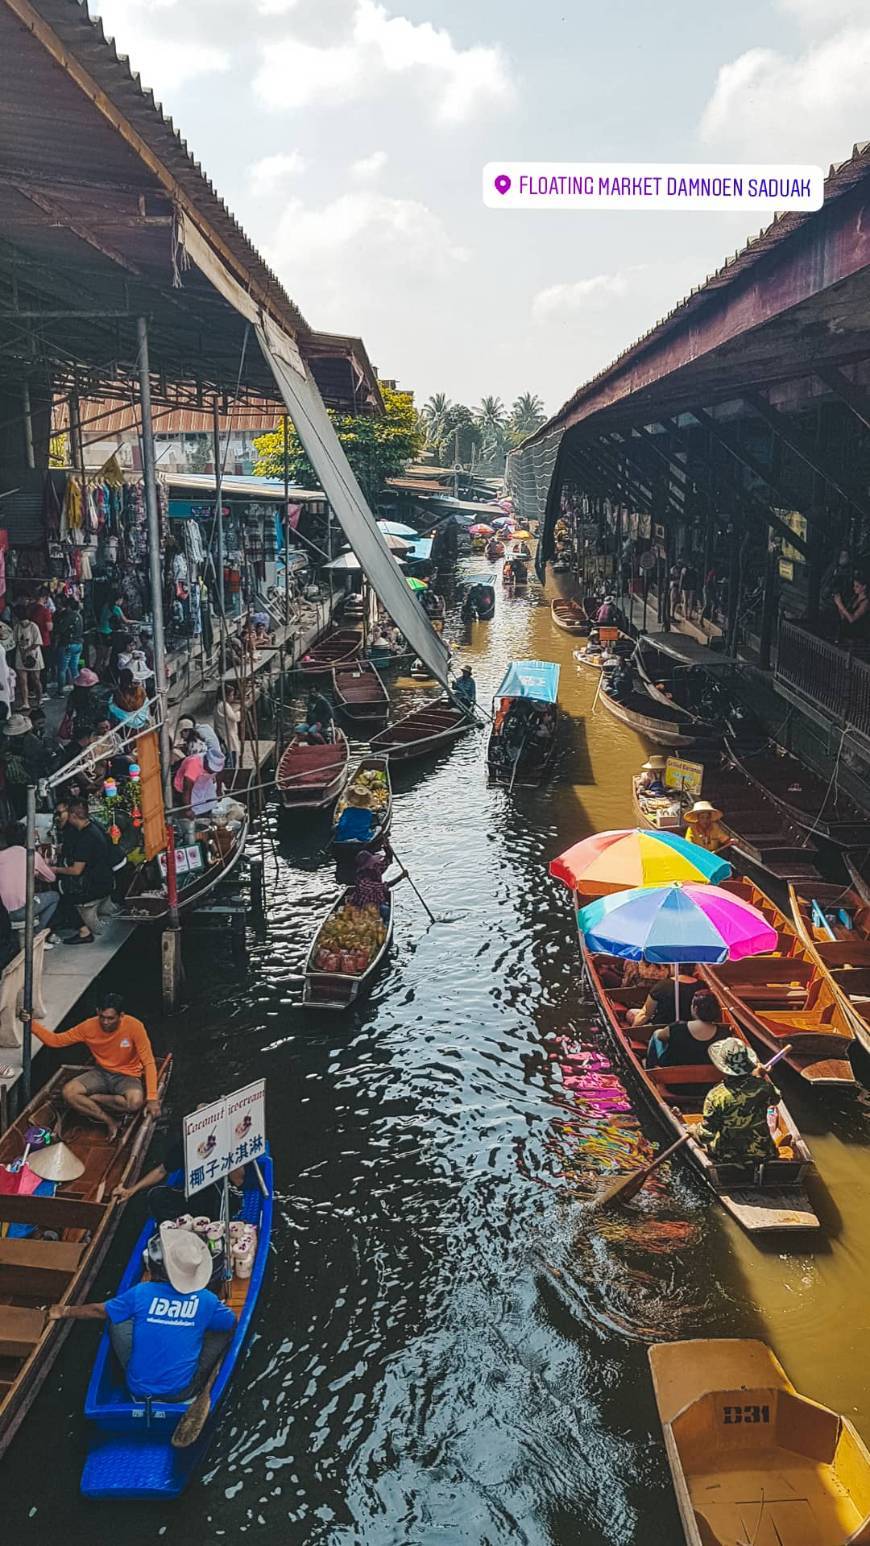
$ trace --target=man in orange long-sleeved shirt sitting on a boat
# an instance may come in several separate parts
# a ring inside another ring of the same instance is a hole
[[[139,1112],[142,1105],[151,1116],[161,1115],[158,1068],[148,1033],[141,1020],[124,1014],[117,994],[107,994],[99,1014],[70,1031],[49,1031],[39,1020],[32,1022],[32,1031],[46,1047],[83,1042],[91,1050],[96,1068],[85,1068],[70,1079],[62,1095],[80,1116],[108,1129],[110,1138],[116,1136],[121,1118]]]

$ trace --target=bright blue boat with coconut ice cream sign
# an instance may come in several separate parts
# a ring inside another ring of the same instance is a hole
[[[246,1221],[257,1226],[257,1254],[250,1277],[233,1275],[229,1283],[227,1303],[236,1317],[236,1330],[212,1385],[212,1410],[201,1436],[185,1449],[172,1447],[172,1435],[189,1402],[159,1398],[145,1402],[130,1396],[113,1357],[108,1331],[104,1331],[85,1398],[85,1418],[99,1430],[82,1472],[85,1498],[178,1498],[199,1469],[226,1405],[227,1387],[241,1362],[269,1262],[274,1187],[270,1156],[264,1153],[258,1166],[266,1195],[261,1195],[260,1187],[246,1189],[243,1209]],[[173,1180],[181,1184],[181,1173]],[[150,1218],[133,1246],[117,1292],[124,1294],[142,1280],[142,1252],[155,1229]]]

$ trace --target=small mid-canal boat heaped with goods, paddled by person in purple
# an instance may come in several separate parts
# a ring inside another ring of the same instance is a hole
[[[349,1010],[372,986],[393,946],[393,892],[386,921],[376,918],[376,908],[363,911],[371,918],[343,934],[348,914],[348,892],[343,892],[314,935],[301,993],[308,1010]]]

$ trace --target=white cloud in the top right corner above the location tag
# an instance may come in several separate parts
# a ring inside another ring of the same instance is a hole
[[[780,0],[807,36],[800,53],[751,48],[723,65],[702,139],[749,161],[844,161],[868,128],[867,0]]]

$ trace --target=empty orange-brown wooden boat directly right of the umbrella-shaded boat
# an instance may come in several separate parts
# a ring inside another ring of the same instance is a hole
[[[709,988],[768,1056],[791,1044],[783,1062],[813,1088],[855,1088],[848,1061],[855,1030],[827,972],[753,881],[728,880],[723,889],[763,912],[779,945],[770,955],[698,968]]]

